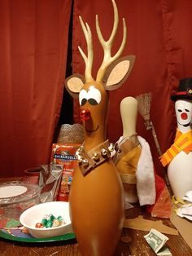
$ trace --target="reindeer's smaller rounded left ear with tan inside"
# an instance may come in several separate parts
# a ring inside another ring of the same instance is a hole
[[[80,74],[73,74],[65,80],[66,89],[73,98],[77,98],[79,96],[79,92],[84,86],[84,83],[85,77]]]

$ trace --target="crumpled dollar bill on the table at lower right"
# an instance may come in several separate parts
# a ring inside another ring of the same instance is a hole
[[[151,228],[151,231],[144,237],[146,239],[146,242],[155,251],[155,254],[160,256],[172,255],[169,249],[164,246],[166,241],[168,241],[168,237],[164,236],[164,234],[160,233],[154,228]]]

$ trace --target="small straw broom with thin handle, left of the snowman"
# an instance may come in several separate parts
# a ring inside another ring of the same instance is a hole
[[[159,157],[161,157],[163,154],[162,154],[162,151],[159,146],[159,141],[157,139],[155,127],[150,118],[151,98],[152,98],[151,92],[145,93],[143,95],[138,95],[136,97],[137,102],[138,102],[138,112],[144,118],[144,124],[146,126],[146,130],[151,130],[153,139],[155,141],[155,146],[157,148],[157,152],[159,153]],[[164,181],[168,186],[169,193],[172,195],[172,190],[171,190],[170,184],[168,182],[167,170],[165,170],[165,169],[164,169]]]

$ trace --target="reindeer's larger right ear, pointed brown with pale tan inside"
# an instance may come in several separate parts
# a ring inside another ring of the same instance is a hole
[[[103,77],[105,90],[116,90],[125,82],[134,64],[135,56],[129,55],[114,61]]]

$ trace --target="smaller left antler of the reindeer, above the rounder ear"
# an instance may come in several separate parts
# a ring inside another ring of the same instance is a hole
[[[92,34],[89,28],[89,24],[87,23],[84,24],[81,16],[79,16],[79,19],[80,19],[81,28],[83,29],[83,33],[85,35],[85,40],[87,43],[87,56],[85,55],[84,51],[82,51],[80,46],[78,46],[78,49],[81,53],[81,56],[83,57],[83,60],[85,61],[85,82],[90,82],[90,81],[93,81],[91,70],[92,70],[93,60],[94,60]]]

